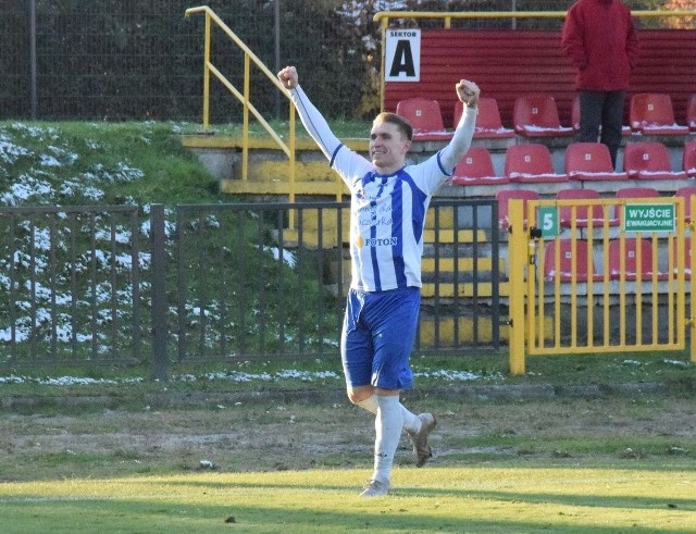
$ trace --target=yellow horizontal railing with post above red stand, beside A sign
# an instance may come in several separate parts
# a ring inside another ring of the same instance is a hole
[[[450,29],[453,18],[564,18],[566,11],[462,11],[462,12],[436,12],[436,11],[380,11],[374,14],[373,21],[382,27],[382,59],[380,72],[384,73],[386,62],[386,30],[389,21],[398,18],[442,18],[443,27]],[[638,18],[659,17],[686,17],[696,16],[696,10],[674,11],[632,11]],[[380,76],[380,108],[384,111],[384,74]]]

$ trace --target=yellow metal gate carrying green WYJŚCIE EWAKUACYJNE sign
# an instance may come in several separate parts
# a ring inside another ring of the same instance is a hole
[[[688,201],[695,209],[696,199]],[[524,373],[526,355],[683,350],[687,328],[696,362],[696,284],[689,284],[686,261],[694,223],[685,221],[683,198],[534,200],[526,210],[523,204],[511,200],[509,210],[512,374]],[[627,207],[646,218],[663,207],[673,211],[662,221],[664,231],[639,231],[629,227]],[[570,210],[570,223],[551,224],[545,235],[542,210],[551,219],[556,213],[558,222],[561,208]],[[695,250],[692,239],[689,258]]]

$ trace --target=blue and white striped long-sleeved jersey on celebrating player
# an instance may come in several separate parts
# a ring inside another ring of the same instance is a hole
[[[384,291],[421,287],[425,212],[469,149],[476,110],[463,114],[446,148],[422,163],[382,175],[371,161],[334,136],[299,86],[290,96],[302,124],[350,190],[351,288]]]

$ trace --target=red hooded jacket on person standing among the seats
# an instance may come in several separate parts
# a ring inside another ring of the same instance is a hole
[[[561,46],[577,69],[577,89],[629,88],[638,39],[631,10],[620,0],[577,0],[566,15]]]

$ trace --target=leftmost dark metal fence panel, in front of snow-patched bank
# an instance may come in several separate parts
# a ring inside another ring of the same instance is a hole
[[[3,207],[0,218],[1,364],[149,356],[137,207]]]

